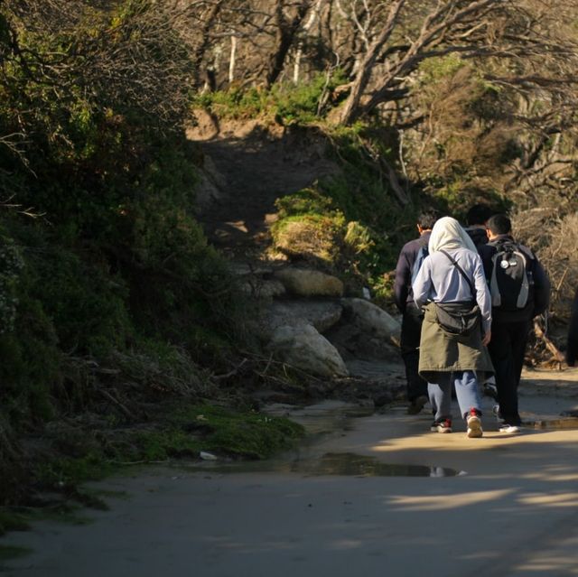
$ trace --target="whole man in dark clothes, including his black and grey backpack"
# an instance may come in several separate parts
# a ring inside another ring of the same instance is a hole
[[[496,370],[501,433],[519,433],[517,404],[524,354],[532,320],[550,303],[550,281],[536,255],[512,237],[505,214],[487,223],[489,242],[478,247],[492,301],[489,356]]]

